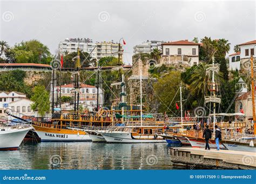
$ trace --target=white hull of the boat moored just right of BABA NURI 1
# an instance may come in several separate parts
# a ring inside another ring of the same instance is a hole
[[[110,132],[102,135],[107,143],[165,143],[161,136],[132,136],[131,132]]]

